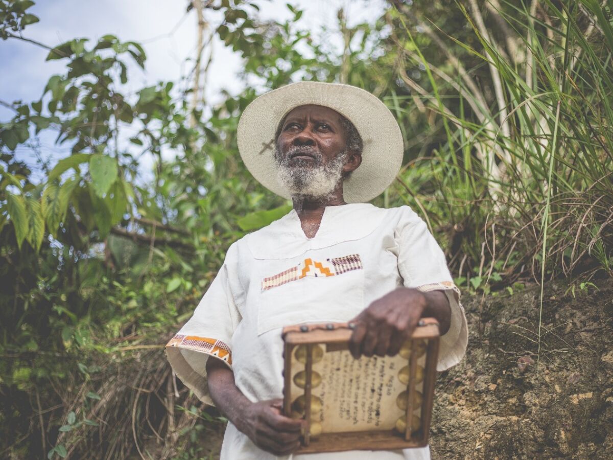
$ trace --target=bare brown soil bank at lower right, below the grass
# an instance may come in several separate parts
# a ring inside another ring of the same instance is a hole
[[[463,299],[468,353],[439,375],[432,458],[613,458],[613,281],[596,284],[548,286],[539,359],[538,286],[486,297],[481,320]]]

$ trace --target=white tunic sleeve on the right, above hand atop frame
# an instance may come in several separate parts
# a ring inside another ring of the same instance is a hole
[[[413,210],[403,207],[395,240],[398,245],[398,271],[407,288],[420,291],[441,290],[449,300],[451,324],[441,335],[437,370],[455,366],[466,354],[468,324],[460,290],[455,286],[443,250],[428,231],[425,222]]]

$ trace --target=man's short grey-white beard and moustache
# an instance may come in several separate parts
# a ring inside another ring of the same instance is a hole
[[[290,156],[295,151],[308,151],[315,156],[314,162],[306,164],[298,160],[291,166]],[[321,153],[312,147],[293,146],[284,159],[281,159],[279,151],[276,150],[276,177],[292,196],[323,198],[332,194],[342,180],[346,159],[346,152],[341,151],[330,163],[324,165]]]

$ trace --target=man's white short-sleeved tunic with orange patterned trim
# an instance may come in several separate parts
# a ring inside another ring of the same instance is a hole
[[[281,329],[292,324],[348,321],[398,286],[443,289],[451,327],[441,337],[438,370],[459,362],[468,329],[459,291],[440,247],[409,207],[330,206],[307,238],[292,210],[238,240],[192,318],[166,347],[178,377],[204,402],[208,356],[234,371],[253,402],[283,397]],[[222,459],[272,460],[228,423]],[[289,458],[289,457],[287,457]],[[295,460],[429,459],[428,447],[404,451],[300,454]]]

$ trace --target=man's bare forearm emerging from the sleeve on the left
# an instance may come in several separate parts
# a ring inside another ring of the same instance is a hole
[[[234,382],[234,372],[216,358],[207,361],[208,391],[215,406],[240,431],[243,427],[243,415],[251,405],[246,396]]]

